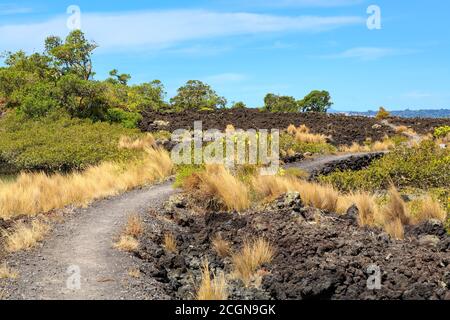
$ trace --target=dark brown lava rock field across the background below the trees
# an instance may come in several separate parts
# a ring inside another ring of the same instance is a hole
[[[394,135],[394,131],[380,125],[377,120],[367,117],[347,117],[324,113],[270,113],[257,109],[183,111],[177,113],[159,113],[146,111],[140,123],[143,131],[193,129],[194,121],[202,121],[203,129],[224,130],[228,124],[235,128],[248,129],[286,129],[290,124],[305,124],[313,133],[332,136],[335,145],[363,143],[366,138],[382,140],[385,135]]]

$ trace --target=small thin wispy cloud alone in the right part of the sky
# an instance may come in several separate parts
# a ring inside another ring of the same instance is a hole
[[[378,60],[390,56],[401,56],[416,53],[416,50],[378,48],[378,47],[357,47],[346,51],[322,56],[330,59],[358,59],[362,61]]]

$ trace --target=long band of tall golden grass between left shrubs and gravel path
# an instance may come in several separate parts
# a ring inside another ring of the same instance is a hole
[[[0,218],[36,215],[68,205],[87,206],[153,183],[172,174],[170,155],[162,149],[146,149],[145,158],[129,164],[103,163],[69,175],[22,173],[15,182],[0,182]]]

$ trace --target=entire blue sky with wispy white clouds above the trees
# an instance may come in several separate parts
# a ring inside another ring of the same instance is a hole
[[[189,79],[228,101],[330,91],[338,110],[450,108],[450,3],[443,0],[0,0],[0,51],[42,50],[69,32],[69,5],[99,44],[96,77]],[[369,5],[381,30],[366,26]]]

